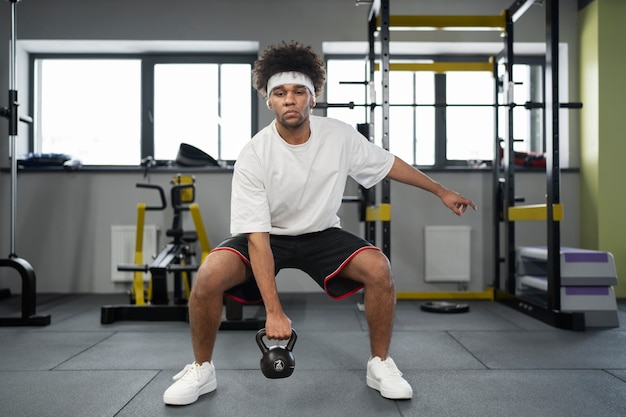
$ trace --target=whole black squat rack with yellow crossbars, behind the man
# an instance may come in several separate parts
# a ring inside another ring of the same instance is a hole
[[[544,0],[545,8],[545,70],[544,70],[544,103],[536,106],[537,103],[527,103],[525,106],[530,108],[543,108],[543,118],[545,126],[546,138],[546,189],[547,199],[545,205],[534,206],[516,206],[515,198],[515,166],[513,151],[513,102],[512,87],[513,82],[513,24],[516,22],[534,3],[536,0],[516,0],[500,16],[391,16],[389,13],[389,0],[372,0],[363,1],[362,3],[371,3],[369,12],[369,62],[370,62],[370,79],[373,80],[373,71],[375,65],[374,56],[374,32],[379,31],[381,52],[380,52],[380,71],[382,74],[382,145],[383,148],[389,149],[389,71],[391,70],[420,70],[416,65],[421,65],[421,70],[436,71],[435,64],[407,64],[402,68],[402,64],[391,64],[389,53],[389,27],[390,26],[433,26],[442,28],[445,26],[455,27],[489,27],[499,28],[504,31],[505,48],[503,51],[503,60],[505,73],[502,80],[499,80],[497,68],[498,64],[493,63],[492,71],[494,73],[495,89],[495,126],[494,126],[494,162],[493,162],[493,202],[494,208],[501,208],[501,211],[494,209],[493,217],[493,239],[495,247],[494,262],[494,281],[492,299],[502,302],[512,308],[515,308],[534,318],[542,320],[552,326],[582,330],[585,327],[583,313],[571,313],[561,311],[560,300],[560,220],[562,218],[562,206],[560,204],[560,166],[559,166],[559,108],[579,108],[579,103],[559,103],[559,7],[558,0]],[[357,0],[357,5],[361,2]],[[462,64],[464,65],[464,64]],[[468,68],[466,66],[466,68]],[[467,70],[471,70],[468,68]],[[476,68],[474,70],[485,70],[485,67]],[[501,178],[500,166],[497,162],[500,153],[499,130],[499,104],[498,91],[504,92],[508,107],[506,112],[507,135],[504,140],[504,157],[502,161],[503,176]],[[372,98],[371,104],[371,120],[374,120],[373,109],[377,104]],[[533,106],[533,104],[535,104]],[[389,180],[385,180],[382,186],[383,204],[389,206],[390,202],[390,184]],[[389,206],[390,214],[390,206]],[[383,220],[383,219],[377,219]],[[389,256],[390,252],[390,216],[383,221],[383,249]],[[547,303],[537,303],[532,300],[523,299],[515,294],[515,221],[522,220],[547,220],[547,247],[548,247],[548,291]],[[504,223],[505,228],[505,253],[504,258],[500,255],[500,230],[501,224]],[[500,274],[501,263],[506,265],[507,277],[503,285]]]

